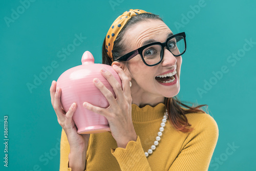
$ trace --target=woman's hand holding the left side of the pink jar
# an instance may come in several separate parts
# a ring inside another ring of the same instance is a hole
[[[74,120],[72,119],[77,105],[76,103],[73,103],[70,106],[69,111],[65,113],[60,103],[61,89],[56,89],[56,84],[56,81],[52,81],[52,86],[50,88],[51,102],[53,109],[57,115],[58,122],[67,135],[71,152],[87,151],[87,149],[84,148],[87,148],[88,146],[90,134],[78,134],[77,127],[74,123]]]

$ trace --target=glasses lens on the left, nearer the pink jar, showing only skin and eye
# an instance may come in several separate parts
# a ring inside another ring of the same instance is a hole
[[[146,47],[142,51],[144,61],[148,65],[154,65],[155,63],[161,60],[161,51],[162,51],[161,45],[152,45],[152,46]]]

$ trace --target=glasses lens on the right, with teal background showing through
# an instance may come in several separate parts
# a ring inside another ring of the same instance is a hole
[[[170,39],[167,46],[174,55],[178,56],[182,54],[185,51],[185,41],[183,36],[177,36]]]

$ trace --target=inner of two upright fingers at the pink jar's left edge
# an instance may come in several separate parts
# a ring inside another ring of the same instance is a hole
[[[60,96],[61,96],[61,89],[56,88],[56,93],[54,95],[53,109],[54,109],[57,117],[59,117],[60,121],[63,122],[63,121],[65,121],[65,113],[64,113],[63,109],[61,108]]]

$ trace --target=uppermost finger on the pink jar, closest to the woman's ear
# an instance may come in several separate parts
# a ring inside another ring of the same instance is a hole
[[[120,67],[113,65],[113,69],[118,73],[120,79],[122,80],[122,88],[123,88],[124,97],[126,99],[132,99],[129,77],[127,77],[127,75],[124,73],[124,71]]]

